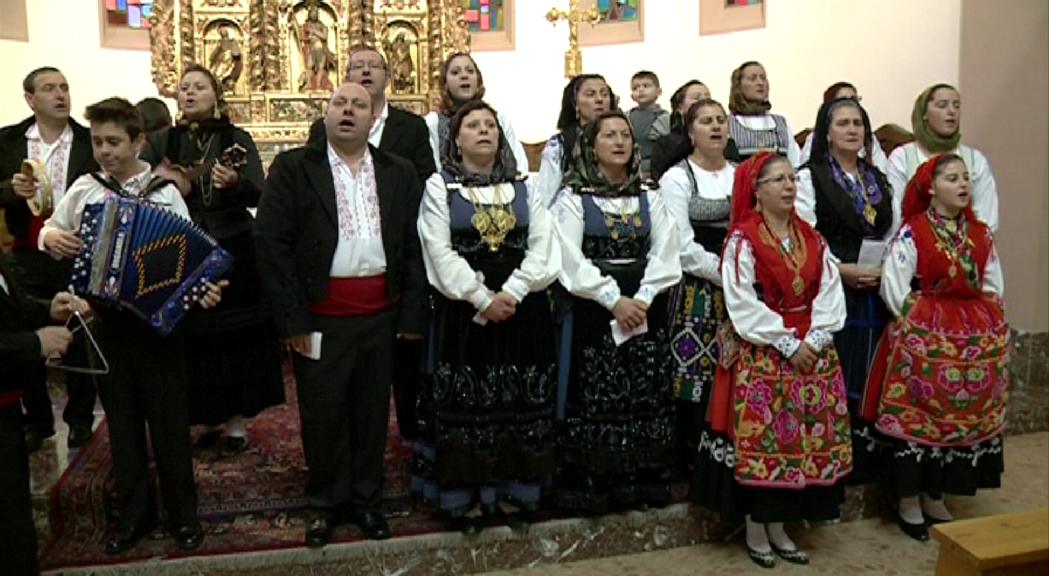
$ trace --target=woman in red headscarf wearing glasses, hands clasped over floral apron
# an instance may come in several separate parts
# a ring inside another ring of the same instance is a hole
[[[795,184],[784,156],[762,152],[736,168],[722,283],[742,342],[735,355],[721,347],[708,413],[733,439],[731,489],[714,488],[746,515],[750,557],[765,568],[775,555],[808,563],[783,522],[837,518],[852,468],[831,337],[845,320],[841,278],[827,242],[794,213]]]

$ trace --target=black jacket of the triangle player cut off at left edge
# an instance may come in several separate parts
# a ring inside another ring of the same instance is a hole
[[[13,274],[0,262],[7,291],[0,289],[0,394],[23,387],[41,362],[36,329],[50,319],[48,304],[23,293]]]

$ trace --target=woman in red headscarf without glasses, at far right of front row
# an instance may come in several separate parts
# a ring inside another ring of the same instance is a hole
[[[897,522],[919,540],[926,522],[951,519],[943,494],[1001,485],[1009,326],[994,241],[971,198],[960,156],[921,165],[882,271],[881,296],[897,320],[862,411],[891,439],[884,471]]]

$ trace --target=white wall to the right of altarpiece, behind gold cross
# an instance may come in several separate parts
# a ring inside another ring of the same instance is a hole
[[[517,49],[477,52],[486,97],[526,142],[554,132],[564,86],[564,23],[543,18],[553,4],[517,0]],[[960,0],[768,0],[766,27],[699,36],[698,0],[646,0],[643,43],[583,48],[583,69],[603,74],[633,106],[630,76],[656,71],[664,108],[675,88],[697,78],[728,102],[732,69],[765,64],[773,109],[794,131],[812,126],[823,89],[838,80],[859,87],[875,126],[911,127],[914,99],[936,82],[958,82]]]

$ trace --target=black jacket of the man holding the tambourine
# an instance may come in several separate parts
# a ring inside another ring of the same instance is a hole
[[[25,199],[15,194],[10,178],[22,169],[22,161],[28,157],[25,131],[36,119],[29,116],[18,124],[0,128],[0,208],[4,209],[7,231],[19,240],[29,237],[29,207]],[[66,172],[66,187],[77,178],[99,169],[91,153],[91,131],[69,119],[72,127],[72,147],[69,150],[69,169]]]

